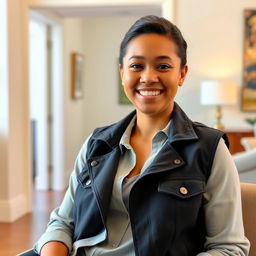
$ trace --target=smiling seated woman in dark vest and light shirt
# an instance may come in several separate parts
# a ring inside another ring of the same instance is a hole
[[[127,32],[120,75],[135,111],[86,140],[37,253],[248,255],[226,136],[174,102],[186,48],[164,18],[143,17]]]

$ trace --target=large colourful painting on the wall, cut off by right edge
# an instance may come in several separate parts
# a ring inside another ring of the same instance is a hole
[[[244,11],[242,110],[256,111],[256,9]]]

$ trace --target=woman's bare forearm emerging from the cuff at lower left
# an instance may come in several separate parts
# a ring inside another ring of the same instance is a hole
[[[68,247],[61,242],[48,242],[41,250],[41,256],[68,256]]]

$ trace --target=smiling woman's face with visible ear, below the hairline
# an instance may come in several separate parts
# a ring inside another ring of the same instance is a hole
[[[187,73],[180,68],[176,44],[167,36],[143,34],[127,47],[120,74],[124,91],[137,111],[170,115],[174,97]]]

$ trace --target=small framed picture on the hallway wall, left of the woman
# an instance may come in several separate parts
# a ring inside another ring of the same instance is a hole
[[[84,56],[80,53],[71,53],[71,98],[83,97]]]

